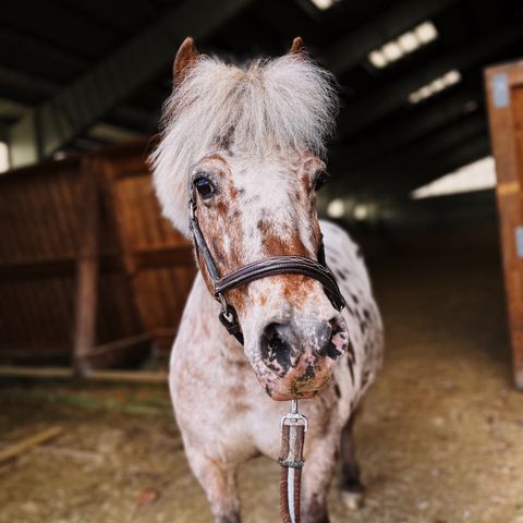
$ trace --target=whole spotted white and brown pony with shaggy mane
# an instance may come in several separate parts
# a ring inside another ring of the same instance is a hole
[[[220,304],[196,250],[200,270],[172,349],[169,385],[215,523],[240,522],[236,470],[259,454],[278,459],[282,401],[290,399],[308,399],[301,403],[309,423],[302,521],[329,521],[326,495],[338,457],[346,504],[363,492],[352,419],[380,366],[382,326],[360,248],[317,216],[337,111],[335,80],[301,38],[282,57],[242,66],[198,53],[192,38],[175,56],[173,92],[150,158],[165,216],[190,238],[195,198],[221,275],[271,256],[316,260],[325,244],[346,304],[336,311],[318,281],[297,273],[232,289],[227,301],[238,313],[242,346],[218,321]]]

